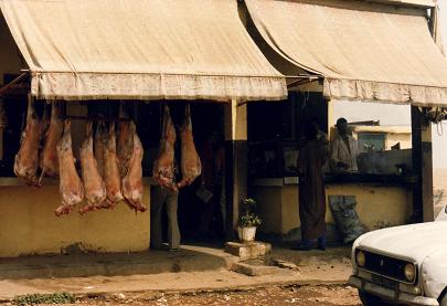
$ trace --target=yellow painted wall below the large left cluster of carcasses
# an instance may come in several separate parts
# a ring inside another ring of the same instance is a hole
[[[136,214],[125,203],[115,210],[55,217],[58,186],[0,187],[0,257],[58,254],[79,243],[93,252],[135,252],[149,246],[149,210]],[[149,186],[143,203],[149,209]]]

